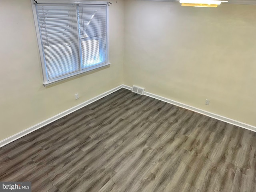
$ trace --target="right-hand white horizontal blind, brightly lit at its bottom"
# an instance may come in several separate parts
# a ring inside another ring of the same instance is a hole
[[[81,5],[78,8],[78,15],[82,67],[87,68],[105,62],[107,59],[106,8]]]

